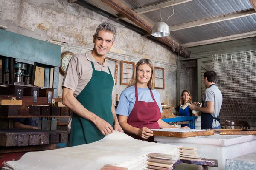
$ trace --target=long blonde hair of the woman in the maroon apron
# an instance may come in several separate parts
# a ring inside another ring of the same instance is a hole
[[[128,88],[130,86],[133,86],[133,85],[135,85],[137,83],[137,74],[136,73],[138,71],[139,66],[143,65],[143,64],[147,64],[151,68],[151,70],[152,70],[151,78],[148,81],[148,88],[151,89],[151,90],[154,89],[154,85],[155,85],[155,82],[154,82],[154,65],[150,61],[150,59],[141,59],[140,61],[137,62],[137,64],[135,65],[135,69],[133,70],[133,74],[132,74],[131,80],[128,83],[126,88]]]

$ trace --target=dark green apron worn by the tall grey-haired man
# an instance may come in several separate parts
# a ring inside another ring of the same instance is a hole
[[[113,77],[105,71],[97,71],[93,68],[93,75],[85,88],[76,99],[86,108],[113,126],[112,90]],[[73,114],[70,132],[70,146],[88,144],[103,139],[105,135],[90,120],[84,119],[76,113]]]

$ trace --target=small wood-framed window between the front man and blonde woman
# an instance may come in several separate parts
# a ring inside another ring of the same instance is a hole
[[[131,80],[134,67],[134,62],[121,61],[121,85],[127,85]]]

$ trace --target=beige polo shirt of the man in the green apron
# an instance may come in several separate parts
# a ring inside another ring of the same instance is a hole
[[[88,84],[93,75],[93,68],[91,62],[94,64],[95,70],[105,71],[109,74],[108,71],[108,62],[104,58],[104,63],[96,61],[92,56],[91,51],[88,51],[85,54],[76,54],[71,59],[67,66],[67,71],[64,76],[62,86],[69,88],[74,91],[74,96],[77,97],[81,91]],[[113,77],[113,73],[112,77]],[[114,79],[114,78],[113,78]],[[115,80],[113,81],[113,83]],[[116,91],[113,87],[112,99],[116,97]]]

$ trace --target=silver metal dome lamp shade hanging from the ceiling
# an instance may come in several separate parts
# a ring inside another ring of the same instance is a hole
[[[155,23],[155,25],[153,26],[151,35],[154,36],[154,37],[169,36],[170,35],[169,26],[163,21]]]

